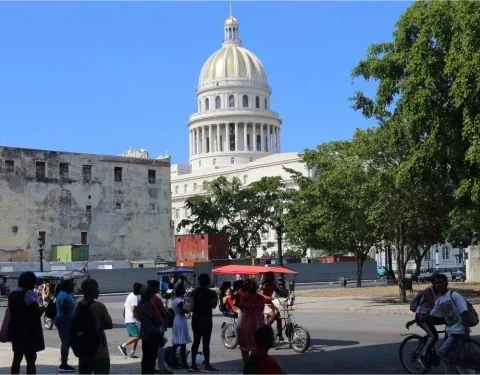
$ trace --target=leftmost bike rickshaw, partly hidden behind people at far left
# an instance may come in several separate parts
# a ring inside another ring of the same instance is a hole
[[[64,280],[73,279],[75,282],[75,290],[77,295],[74,295],[74,300],[77,302],[79,296],[79,285],[76,281],[80,279],[85,279],[89,275],[85,272],[79,271],[51,271],[51,272],[35,272],[37,277],[37,283],[39,288],[37,288],[38,293],[38,304],[39,305],[48,305],[49,303],[55,303],[55,298],[60,292],[60,285]],[[48,288],[48,291],[44,293],[45,288]],[[45,329],[51,330],[53,328],[53,319],[47,317],[47,314],[43,314],[43,325]]]

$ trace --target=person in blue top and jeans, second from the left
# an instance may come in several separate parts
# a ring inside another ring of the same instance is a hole
[[[45,290],[45,289],[44,289]],[[55,327],[57,327],[58,336],[62,343],[60,347],[61,363],[58,366],[59,372],[75,372],[75,368],[68,364],[68,353],[70,351],[70,327],[75,309],[75,300],[72,293],[75,290],[73,279],[63,280],[60,285],[55,304],[57,306],[57,315],[55,316]]]

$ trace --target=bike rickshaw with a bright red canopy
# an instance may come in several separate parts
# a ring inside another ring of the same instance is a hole
[[[215,278],[221,275],[237,275],[244,277],[259,276],[267,273],[273,272],[275,274],[282,275],[291,275],[293,276],[293,281],[288,283],[288,294],[284,297],[275,296],[274,304],[280,310],[280,318],[282,319],[282,330],[284,336],[288,340],[289,347],[292,348],[297,353],[304,353],[310,346],[310,333],[306,328],[299,326],[291,313],[292,307],[295,300],[295,275],[297,272],[280,266],[244,266],[244,265],[230,265],[225,267],[215,268],[212,273]],[[223,345],[227,349],[235,349],[238,345],[238,336],[237,336],[237,314],[227,311],[223,304],[223,297],[225,296],[225,291],[228,288],[231,288],[230,281],[222,282],[218,290],[219,297],[219,310],[222,314],[229,318],[228,322],[223,322],[221,340]],[[266,321],[266,317],[265,317]],[[277,335],[276,335],[277,336]]]

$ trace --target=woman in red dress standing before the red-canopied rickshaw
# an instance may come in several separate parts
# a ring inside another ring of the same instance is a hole
[[[243,284],[244,294],[240,297],[239,308],[242,312],[238,320],[238,344],[242,352],[244,365],[250,352],[255,350],[255,330],[263,324],[264,298],[257,293],[257,285],[253,280]]]

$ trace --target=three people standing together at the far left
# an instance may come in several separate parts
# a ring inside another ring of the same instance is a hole
[[[12,374],[20,373],[20,364],[25,358],[27,374],[36,373],[35,362],[37,353],[45,349],[41,316],[47,305],[39,303],[38,293],[35,291],[37,284],[33,272],[23,272],[18,279],[18,287],[8,296],[8,310],[10,320],[8,323],[8,340],[12,343],[13,361]],[[73,280],[65,280],[61,291],[56,298],[57,314],[55,325],[61,340],[61,364],[59,372],[74,372],[75,369],[68,365],[68,354],[71,346],[71,325],[75,318],[82,319],[80,311],[88,311],[95,324],[95,331],[100,340],[94,351],[89,356],[79,357],[78,373],[80,374],[108,374],[110,371],[110,356],[108,353],[105,330],[112,329],[112,318],[107,308],[96,301],[100,291],[94,279],[86,279],[81,285],[83,298],[75,303],[72,297],[74,288]]]

